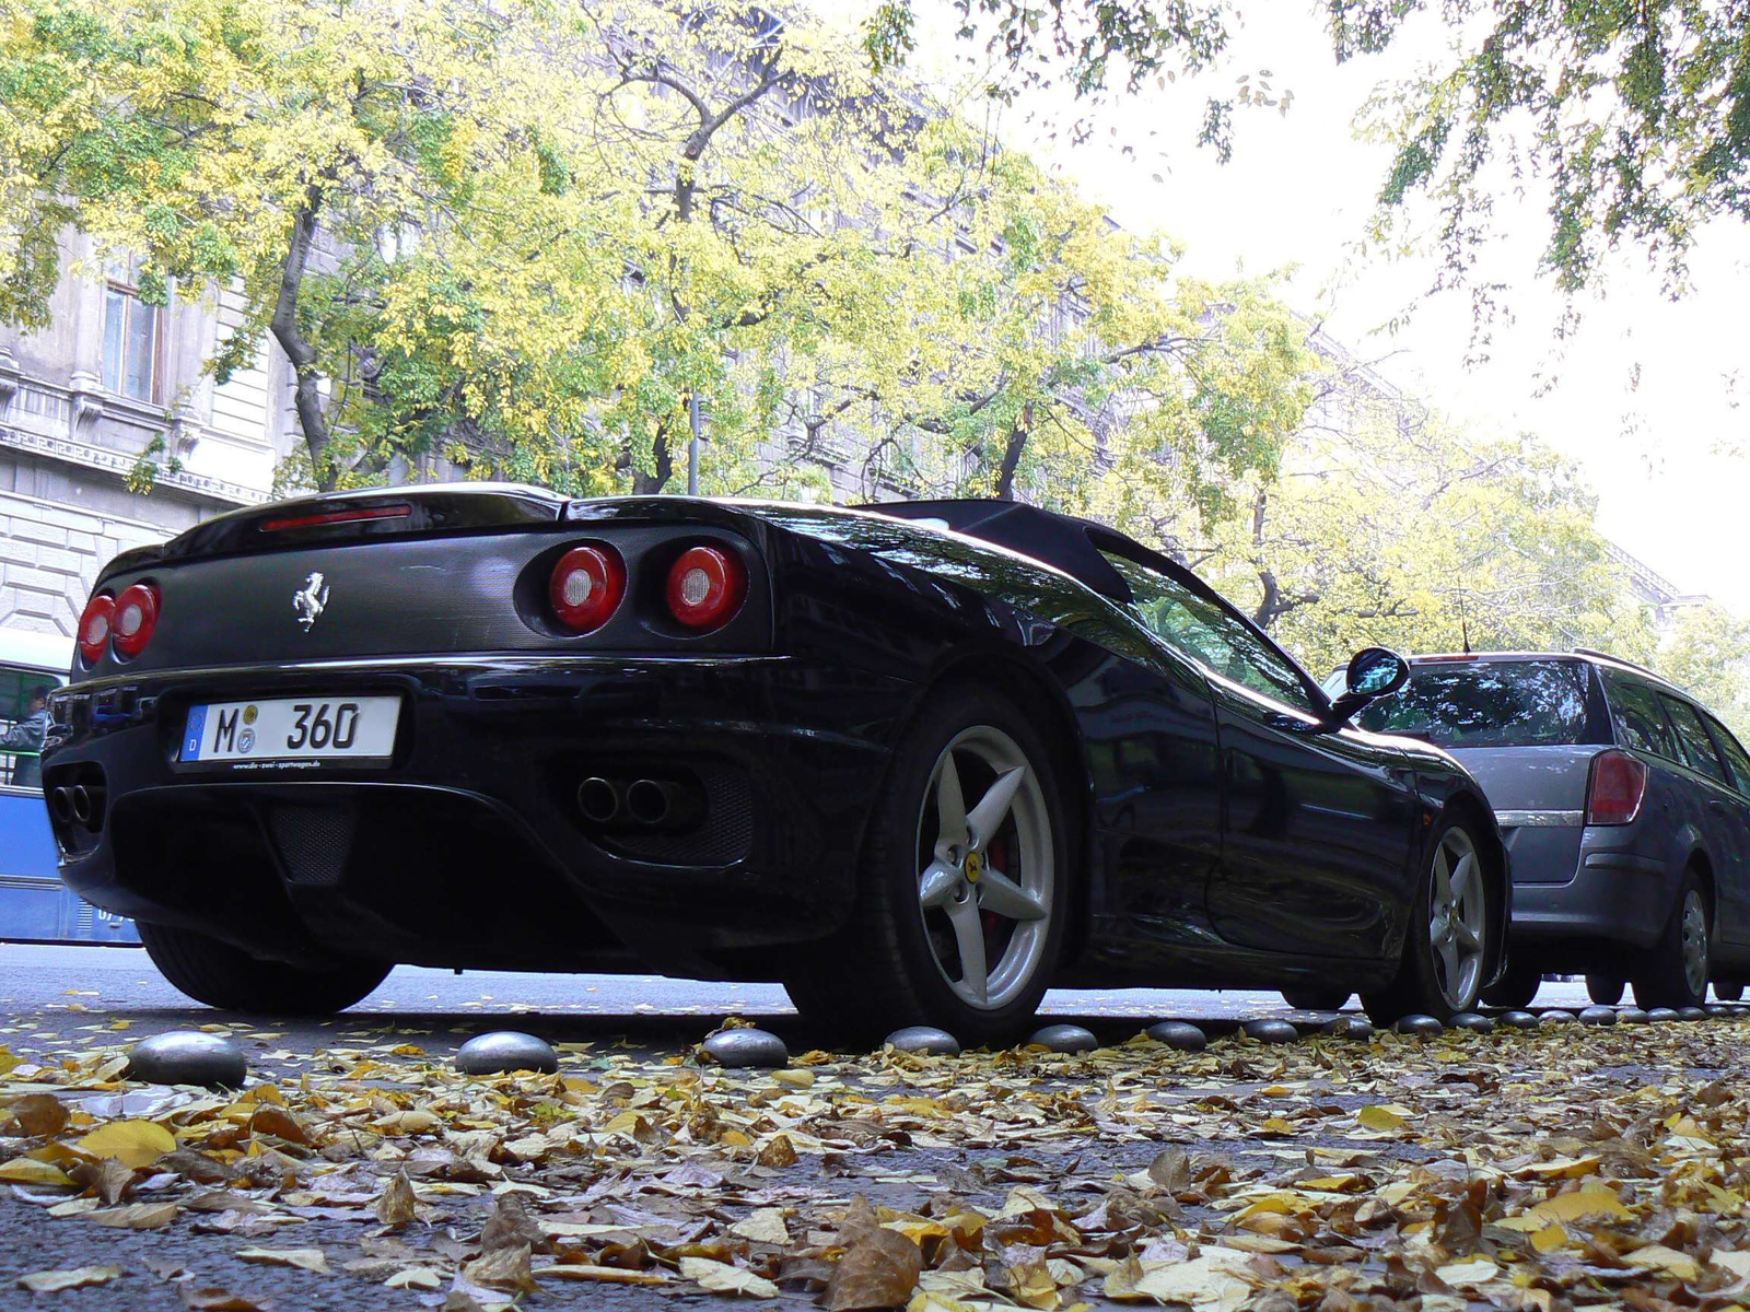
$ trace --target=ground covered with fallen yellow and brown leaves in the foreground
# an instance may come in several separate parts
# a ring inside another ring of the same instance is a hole
[[[233,1029],[234,1097],[0,1055],[0,1307],[1750,1307],[1741,1016],[544,1078]]]

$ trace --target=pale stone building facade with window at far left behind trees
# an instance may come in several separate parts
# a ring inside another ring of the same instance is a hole
[[[222,387],[203,373],[234,299],[154,308],[80,238],[63,259],[49,325],[0,327],[0,628],[70,639],[103,562],[264,500],[296,427],[271,343]]]

